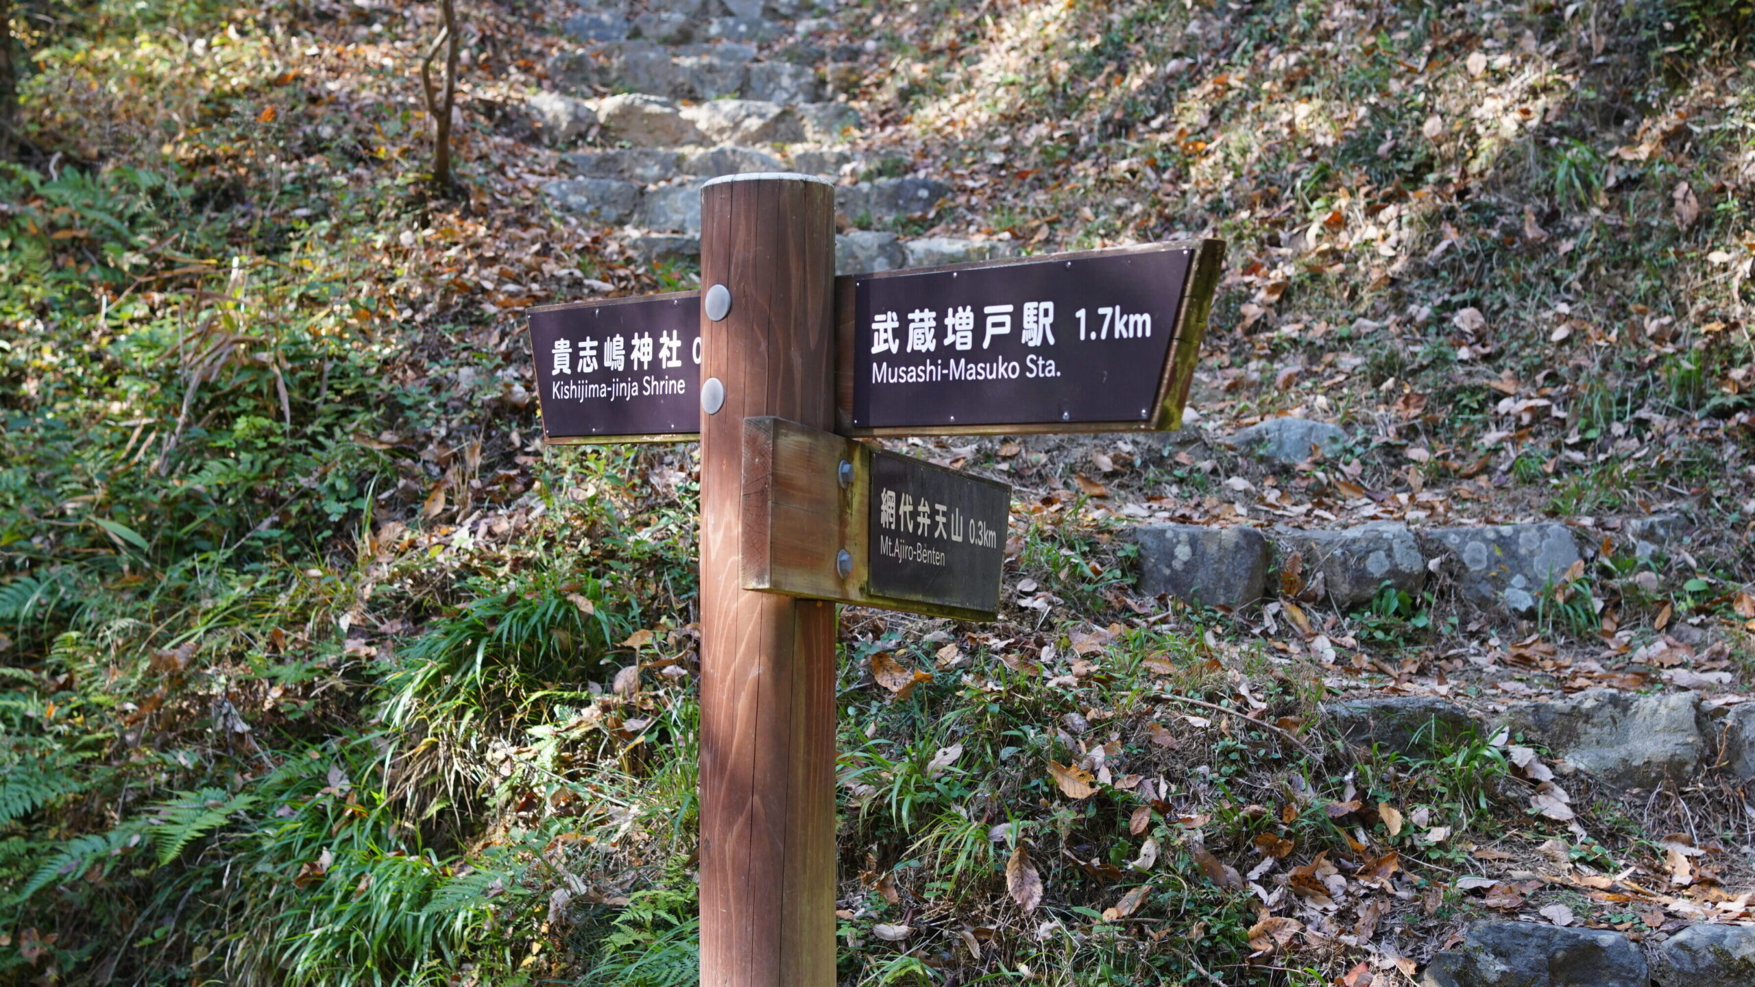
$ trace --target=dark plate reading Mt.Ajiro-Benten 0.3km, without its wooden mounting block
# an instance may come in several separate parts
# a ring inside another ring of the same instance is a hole
[[[867,588],[997,613],[1011,486],[881,451],[869,476]]]

